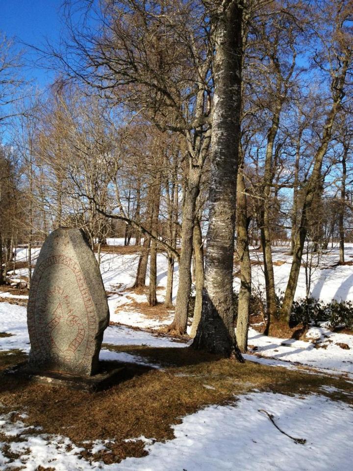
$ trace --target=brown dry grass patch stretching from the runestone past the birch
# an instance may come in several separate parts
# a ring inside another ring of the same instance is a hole
[[[234,402],[237,395],[254,388],[283,394],[318,392],[353,403],[352,396],[345,394],[352,391],[352,385],[342,379],[250,361],[241,365],[190,348],[106,347],[142,356],[163,366],[163,370],[126,364],[121,382],[98,393],[32,384],[16,375],[7,375],[0,380],[0,402],[6,412],[25,410],[29,416],[25,421],[42,426],[41,433],[68,436],[76,445],[86,448],[83,452],[86,459],[101,459],[105,463],[146,454],[144,443],[124,440],[140,435],[157,441],[172,439],[171,425],[179,423],[180,417],[209,404]],[[0,365],[4,358],[6,355],[0,356]],[[325,392],[321,389],[324,385],[340,391]],[[82,442],[96,439],[114,439],[114,444],[107,445],[111,453],[92,456],[91,445]]]

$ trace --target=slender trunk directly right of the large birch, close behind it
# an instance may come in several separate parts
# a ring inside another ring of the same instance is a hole
[[[245,182],[241,168],[237,178],[237,221],[238,240],[237,252],[240,262],[240,289],[238,296],[238,318],[236,324],[236,341],[239,350],[245,353],[248,350],[249,312],[251,297],[251,262],[248,242],[248,211]]]

